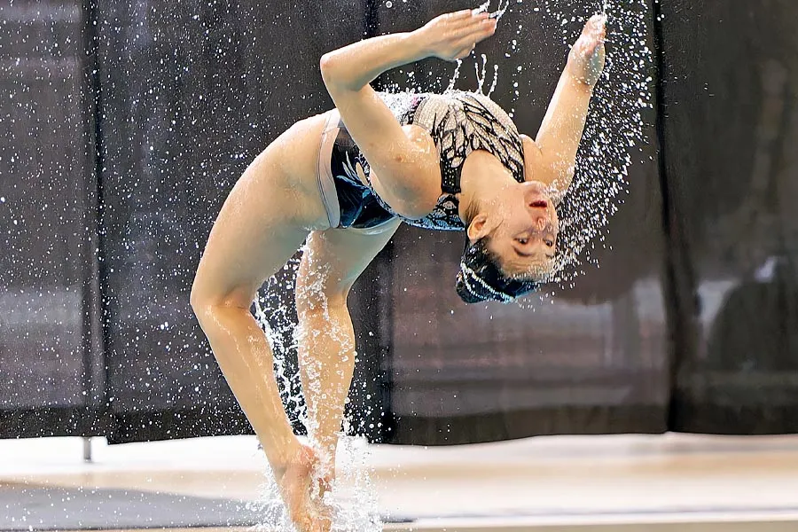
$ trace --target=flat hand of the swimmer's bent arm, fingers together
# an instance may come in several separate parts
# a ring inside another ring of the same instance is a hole
[[[496,19],[486,12],[464,10],[435,17],[412,33],[426,57],[463,59],[476,43],[496,33]]]

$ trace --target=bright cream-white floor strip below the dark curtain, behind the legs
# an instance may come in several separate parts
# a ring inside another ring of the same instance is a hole
[[[0,486],[255,500],[264,478],[248,436],[92,448],[85,464],[79,439],[0,442]],[[380,509],[415,520],[391,530],[798,530],[798,436],[558,436],[370,451]]]

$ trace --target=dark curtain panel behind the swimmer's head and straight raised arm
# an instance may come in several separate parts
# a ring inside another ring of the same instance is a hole
[[[488,58],[482,90],[489,90],[491,65],[496,64],[499,79],[491,98],[512,112],[520,131],[530,137],[536,135],[565,65],[564,39],[572,43],[584,17],[601,7],[594,2],[548,5],[550,12],[533,4],[511,4],[497,34],[476,51],[478,58],[483,53]],[[379,10],[379,28],[411,30],[442,12],[470,6],[397,2]],[[640,38],[653,46],[653,15],[640,9],[645,20]],[[621,28],[617,20],[612,24],[610,57],[621,62],[627,56],[618,51],[613,55],[612,49],[612,31]],[[473,58],[463,62],[455,87],[478,89],[473,63]],[[649,61],[647,67],[652,66]],[[619,71],[602,80],[586,137],[603,130],[614,143],[625,142],[620,130],[608,128],[617,124],[609,113],[622,107],[610,109],[608,102],[613,95],[630,98],[622,83],[628,81],[623,73],[632,68],[619,64]],[[454,70],[453,64],[430,59],[387,74],[385,82],[395,90],[444,90]],[[645,111],[645,121],[645,135],[654,139],[653,109]],[[580,157],[589,155],[583,146]],[[606,237],[597,237],[596,248],[583,252],[577,267],[582,275],[546,287],[554,293],[551,299],[531,296],[520,305],[466,306],[454,292],[465,236],[409,228],[397,233],[390,255],[393,274],[386,279],[391,313],[383,317],[391,339],[385,369],[396,416],[390,442],[434,445],[536,434],[667,430],[669,330],[656,146],[645,144],[630,155],[629,194],[623,195]],[[609,167],[579,168],[571,192],[578,200],[566,200],[560,215],[573,223],[563,232],[590,226],[586,216],[595,213],[586,208],[589,180],[611,184],[615,177]]]

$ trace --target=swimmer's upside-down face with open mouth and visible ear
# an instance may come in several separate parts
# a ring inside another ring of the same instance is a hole
[[[498,192],[473,222],[482,219],[481,236],[489,237],[488,249],[505,275],[544,280],[552,273],[559,218],[544,184],[526,182]]]

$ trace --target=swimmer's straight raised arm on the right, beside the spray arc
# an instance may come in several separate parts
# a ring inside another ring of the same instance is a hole
[[[574,178],[593,87],[604,69],[605,21],[604,15],[595,15],[585,24],[568,54],[535,141],[524,136],[528,169],[536,181],[552,184],[560,198]]]

